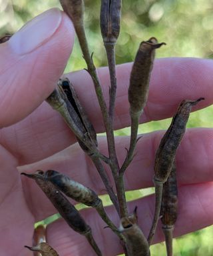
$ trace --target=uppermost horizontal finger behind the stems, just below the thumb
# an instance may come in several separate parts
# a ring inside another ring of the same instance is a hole
[[[117,97],[114,129],[130,125],[128,114],[128,79],[132,63],[117,66]],[[213,102],[213,62],[207,59],[170,58],[157,59],[150,80],[150,92],[140,122],[171,117],[182,99],[205,101],[198,108]],[[98,69],[103,92],[108,101],[109,77],[107,67]],[[91,77],[87,71],[66,75],[75,85],[79,98],[98,133],[104,131],[101,111]],[[21,133],[20,133],[21,131]],[[4,139],[3,139],[4,138]],[[15,155],[20,164],[39,161],[49,157],[76,141],[59,114],[47,104],[41,105],[34,113],[13,127],[1,130],[0,142]],[[33,147],[33,148],[32,148]],[[33,150],[32,150],[33,149]]]

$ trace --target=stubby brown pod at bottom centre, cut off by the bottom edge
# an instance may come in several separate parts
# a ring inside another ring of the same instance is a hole
[[[136,222],[136,210],[120,220],[120,232],[126,238],[127,253],[130,256],[150,256],[148,241]]]

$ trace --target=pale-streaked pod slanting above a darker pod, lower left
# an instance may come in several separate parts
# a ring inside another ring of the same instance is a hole
[[[92,189],[85,187],[77,181],[73,181],[58,171],[46,171],[45,178],[51,181],[51,183],[65,193],[67,197],[71,197],[79,203],[84,203],[87,206],[95,207],[101,202],[101,199],[99,199],[98,195]]]

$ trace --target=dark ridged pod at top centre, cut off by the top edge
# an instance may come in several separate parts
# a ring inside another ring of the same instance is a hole
[[[120,33],[121,0],[102,0],[100,25],[104,43],[115,43]]]

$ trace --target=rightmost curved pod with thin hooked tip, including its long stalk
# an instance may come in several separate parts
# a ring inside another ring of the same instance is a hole
[[[155,209],[154,218],[152,221],[152,227],[148,235],[148,243],[150,244],[155,233],[156,225],[158,223],[160,215],[160,205],[162,200],[162,188],[163,184],[168,179],[176,150],[180,145],[180,141],[186,130],[186,123],[190,115],[192,106],[196,105],[199,101],[204,98],[199,98],[196,101],[184,100],[180,103],[176,114],[172,118],[170,127],[162,137],[160,145],[156,152],[154,161],[154,187],[155,187]]]

